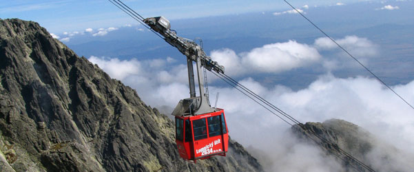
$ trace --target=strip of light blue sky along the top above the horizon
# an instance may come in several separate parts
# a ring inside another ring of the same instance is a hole
[[[242,14],[289,9],[284,1],[124,1],[143,17],[166,16],[168,19]],[[355,3],[358,0],[342,1],[291,1],[294,6],[329,6],[335,3]],[[37,21],[50,32],[84,30],[85,28],[107,28],[134,23],[130,17],[105,0],[79,1],[8,1],[1,3],[0,18],[19,18]]]

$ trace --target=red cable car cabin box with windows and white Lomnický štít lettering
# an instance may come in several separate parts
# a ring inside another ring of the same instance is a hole
[[[227,132],[223,109],[198,116],[176,116],[176,143],[184,160],[225,156],[228,150]]]

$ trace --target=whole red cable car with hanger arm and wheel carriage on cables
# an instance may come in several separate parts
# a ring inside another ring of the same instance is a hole
[[[225,68],[205,54],[203,41],[198,39],[200,47],[195,41],[178,36],[174,30],[170,30],[171,25],[164,17],[150,17],[143,21],[154,32],[161,34],[167,43],[187,56],[190,98],[180,100],[172,112],[176,116],[176,143],[181,158],[196,162],[213,155],[225,156],[229,143],[225,113],[223,109],[211,107],[205,74],[205,69],[224,74]],[[197,65],[200,96],[196,96],[193,62]],[[203,84],[206,85],[206,92]]]

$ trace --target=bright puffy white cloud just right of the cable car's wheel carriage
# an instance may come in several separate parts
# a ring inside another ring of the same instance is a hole
[[[215,50],[211,52],[211,58],[224,65],[227,74],[234,76],[245,72],[282,72],[309,65],[321,56],[314,47],[288,41],[264,45],[240,54],[229,49]]]

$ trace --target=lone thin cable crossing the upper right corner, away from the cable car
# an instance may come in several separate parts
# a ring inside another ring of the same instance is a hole
[[[408,103],[404,98],[402,98],[402,96],[400,96],[400,94],[397,94],[397,92],[394,91],[394,89],[392,89],[389,85],[387,85],[386,83],[384,83],[384,81],[382,81],[382,79],[380,79],[377,75],[375,75],[373,72],[371,72],[370,69],[368,69],[368,67],[366,67],[364,64],[362,64],[360,61],[358,61],[357,58],[355,58],[352,54],[350,54],[348,51],[346,51],[344,49],[344,47],[342,47],[339,43],[337,43],[334,39],[332,39],[331,36],[329,36],[327,33],[325,33],[322,29],[320,29],[318,27],[318,25],[315,25],[315,23],[313,23],[310,19],[308,19],[307,17],[304,16],[304,14],[302,14],[302,12],[300,12],[298,9],[296,9],[295,7],[293,7],[287,0],[283,0],[284,2],[286,2],[289,6],[291,6],[291,8],[293,8],[293,10],[296,10],[296,12],[298,12],[302,17],[304,17],[304,19],[306,19],[307,21],[309,21],[309,23],[311,23],[316,29],[318,29],[320,32],[322,32],[322,34],[324,34],[325,36],[327,36],[329,39],[331,39],[331,41],[333,41],[333,43],[335,43],[336,45],[338,45],[338,47],[340,47],[340,49],[344,50],[344,52],[346,54],[348,54],[349,56],[351,56],[351,58],[353,58],[353,60],[355,60],[358,64],[360,64],[362,67],[364,67],[364,69],[366,69],[366,71],[368,71],[372,76],[374,76],[378,81],[380,81],[380,83],[382,83],[382,85],[385,85],[385,87],[387,87],[389,90],[391,90],[391,92],[393,92],[395,95],[397,95],[401,100],[404,101],[404,103],[406,103],[408,106],[411,107],[411,109],[414,109],[413,105],[411,105],[410,103]]]

